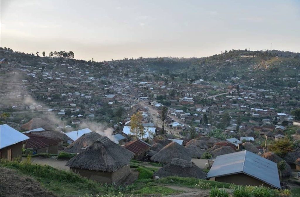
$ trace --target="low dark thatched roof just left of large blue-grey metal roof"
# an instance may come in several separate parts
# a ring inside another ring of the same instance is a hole
[[[160,178],[167,176],[179,176],[205,179],[206,174],[192,161],[173,158],[169,164],[155,172],[154,176],[159,176]]]

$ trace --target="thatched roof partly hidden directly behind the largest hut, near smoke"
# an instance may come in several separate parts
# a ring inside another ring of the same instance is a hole
[[[99,138],[101,138],[101,135],[96,132],[83,134],[80,138],[78,138],[76,141],[74,141],[69,146],[67,146],[64,149],[64,152],[80,153],[85,150],[82,148],[86,148],[90,146]]]

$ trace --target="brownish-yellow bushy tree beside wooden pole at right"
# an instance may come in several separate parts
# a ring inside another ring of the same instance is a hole
[[[294,148],[293,143],[288,139],[284,138],[282,140],[274,141],[273,144],[268,145],[268,149],[271,152],[284,157],[288,152],[291,152]]]

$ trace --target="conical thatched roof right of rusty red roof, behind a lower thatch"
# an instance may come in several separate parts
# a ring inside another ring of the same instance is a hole
[[[162,164],[167,164],[173,158],[179,158],[187,161],[190,161],[192,159],[187,149],[185,149],[183,146],[180,146],[176,142],[171,142],[163,149],[161,149],[158,153],[153,155],[150,160],[157,161]]]

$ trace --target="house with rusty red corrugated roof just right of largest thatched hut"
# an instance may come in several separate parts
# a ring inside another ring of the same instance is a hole
[[[135,160],[141,160],[145,156],[145,153],[151,148],[151,145],[138,139],[125,143],[123,147],[134,153]]]

